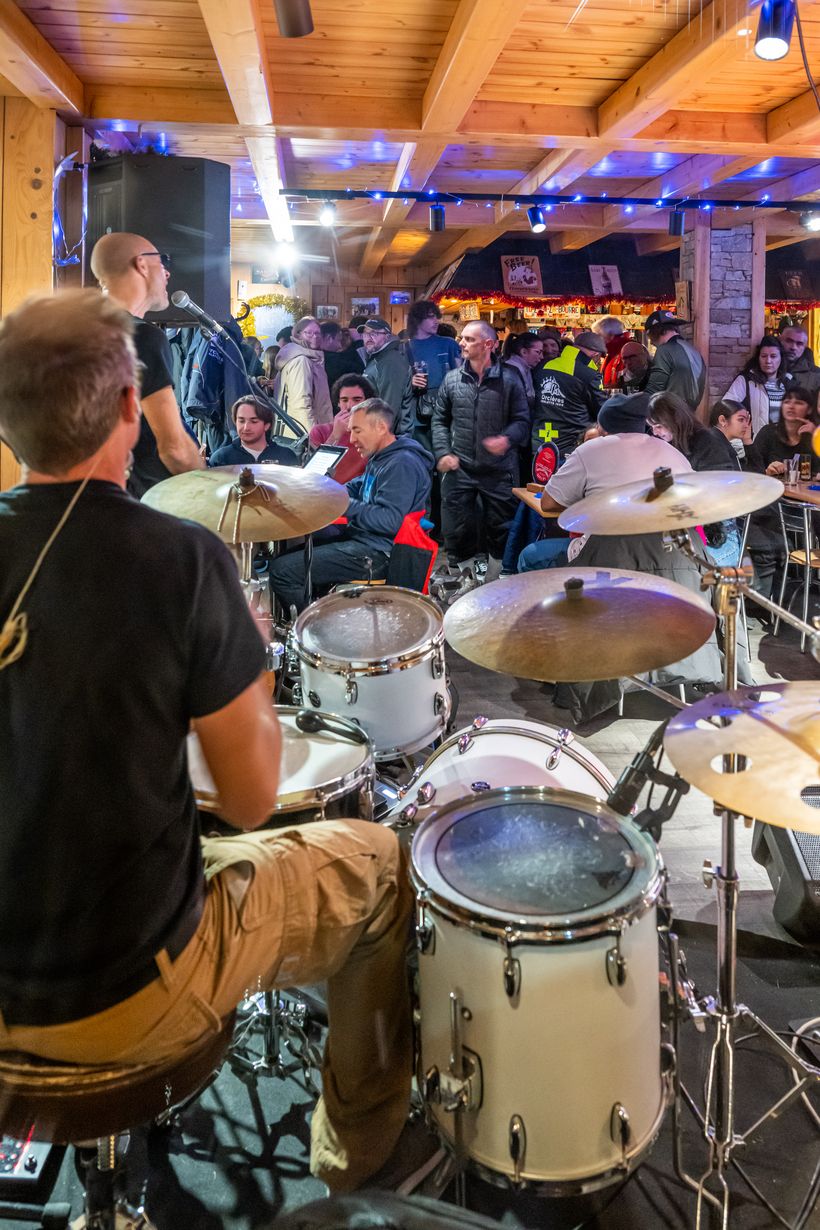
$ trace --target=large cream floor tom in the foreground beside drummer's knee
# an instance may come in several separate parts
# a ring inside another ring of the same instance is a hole
[[[441,1137],[546,1194],[623,1178],[669,1100],[652,839],[588,796],[494,790],[424,820],[412,878],[419,1087]]]

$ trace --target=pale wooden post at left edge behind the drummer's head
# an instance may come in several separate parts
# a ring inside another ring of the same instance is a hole
[[[52,183],[57,113],[26,98],[2,100],[0,138],[0,315],[53,287]],[[32,362],[37,357],[32,355]],[[0,490],[20,481],[11,449],[0,445]]]

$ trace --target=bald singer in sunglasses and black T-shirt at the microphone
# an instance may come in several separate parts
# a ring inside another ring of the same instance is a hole
[[[97,240],[91,272],[103,294],[134,319],[136,357],[141,364],[139,439],[128,490],[138,499],[172,474],[202,470],[199,446],[182,421],[173,394],[171,348],[161,328],[148,323],[146,311],[168,306],[168,258],[150,240],[114,231]]]

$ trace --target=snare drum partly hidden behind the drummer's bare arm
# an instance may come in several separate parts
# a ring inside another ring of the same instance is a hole
[[[333,818],[371,820],[373,747],[361,728],[334,713],[320,713],[332,729],[306,734],[296,726],[299,708],[275,708],[282,727],[279,797],[264,828]],[[188,772],[199,811],[220,818],[216,786],[195,734],[188,736]]]

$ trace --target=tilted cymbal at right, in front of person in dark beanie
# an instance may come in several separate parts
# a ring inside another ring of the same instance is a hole
[[[572,504],[558,524],[573,534],[654,534],[744,517],[783,494],[779,478],[735,470],[676,474],[610,487]]]

